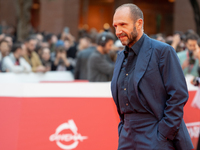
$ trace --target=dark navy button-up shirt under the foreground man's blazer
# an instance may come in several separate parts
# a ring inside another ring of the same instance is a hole
[[[126,46],[124,50],[125,58],[117,81],[119,107],[122,114],[147,112],[139,102],[133,86],[135,64],[143,41],[144,34],[131,48]],[[133,106],[130,105],[130,100],[133,100]]]

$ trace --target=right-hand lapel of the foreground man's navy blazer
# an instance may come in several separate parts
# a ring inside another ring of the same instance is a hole
[[[134,74],[134,88],[136,90],[137,97],[139,99],[138,95],[138,83],[140,79],[143,77],[147,66],[149,64],[149,60],[152,53],[152,47],[151,47],[151,39],[145,35],[144,43],[142,44],[142,47],[140,48],[140,52],[137,58],[137,62],[135,65],[135,74]]]

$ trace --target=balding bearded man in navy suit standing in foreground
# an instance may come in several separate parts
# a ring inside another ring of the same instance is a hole
[[[118,150],[191,150],[183,121],[187,85],[175,50],[143,33],[143,13],[134,4],[113,17],[119,52],[111,89],[120,116]]]

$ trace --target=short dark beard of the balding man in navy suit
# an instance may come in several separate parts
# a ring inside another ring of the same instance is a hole
[[[121,36],[126,36],[127,37],[127,40],[126,41],[123,41],[120,39]],[[122,33],[120,35],[118,35],[118,38],[120,39],[122,45],[124,46],[131,46],[132,44],[136,43],[136,39],[137,39],[137,36],[138,36],[138,33],[136,31],[136,28],[134,27],[133,28],[133,31],[128,35],[126,33]]]

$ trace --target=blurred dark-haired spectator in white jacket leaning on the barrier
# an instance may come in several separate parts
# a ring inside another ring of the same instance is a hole
[[[31,72],[31,66],[22,57],[22,44],[13,45],[10,55],[3,59],[2,70],[15,73]]]

